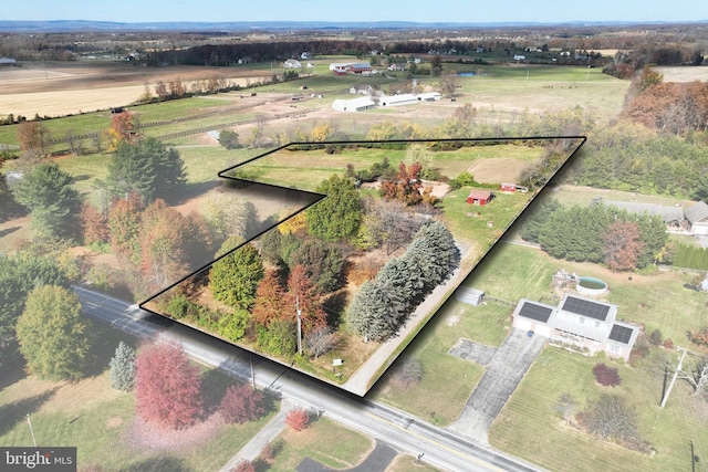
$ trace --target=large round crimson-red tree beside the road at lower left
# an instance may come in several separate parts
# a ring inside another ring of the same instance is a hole
[[[198,420],[201,376],[180,345],[143,345],[135,369],[135,408],[143,420],[171,429],[188,428]]]

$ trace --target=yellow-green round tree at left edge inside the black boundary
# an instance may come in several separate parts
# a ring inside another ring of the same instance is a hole
[[[216,300],[235,308],[250,308],[263,279],[263,261],[252,244],[243,244],[229,253],[235,245],[230,238],[217,252],[217,258],[227,255],[211,266],[209,287]]]

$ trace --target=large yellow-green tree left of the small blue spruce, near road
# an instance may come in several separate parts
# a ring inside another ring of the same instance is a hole
[[[30,292],[17,336],[28,369],[39,378],[59,381],[83,377],[90,359],[91,325],[73,291],[42,285]]]

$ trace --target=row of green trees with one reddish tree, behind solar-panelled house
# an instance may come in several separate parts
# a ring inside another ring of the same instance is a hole
[[[556,200],[537,208],[521,237],[556,259],[604,263],[616,271],[660,262],[668,242],[660,217],[629,214],[601,203],[564,208]]]

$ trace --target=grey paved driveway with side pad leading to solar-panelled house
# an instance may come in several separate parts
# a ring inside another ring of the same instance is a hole
[[[489,358],[485,375],[450,429],[487,444],[487,430],[507,405],[507,400],[543,349],[545,342],[546,338],[543,336],[529,337],[525,331],[513,328]],[[464,348],[460,348],[459,344],[456,345],[457,348],[450,349],[450,353],[468,354],[466,358],[470,360],[480,357],[485,359],[487,356],[479,354],[489,353],[487,346],[478,348],[480,345],[470,346],[469,344],[475,343],[464,342]]]

